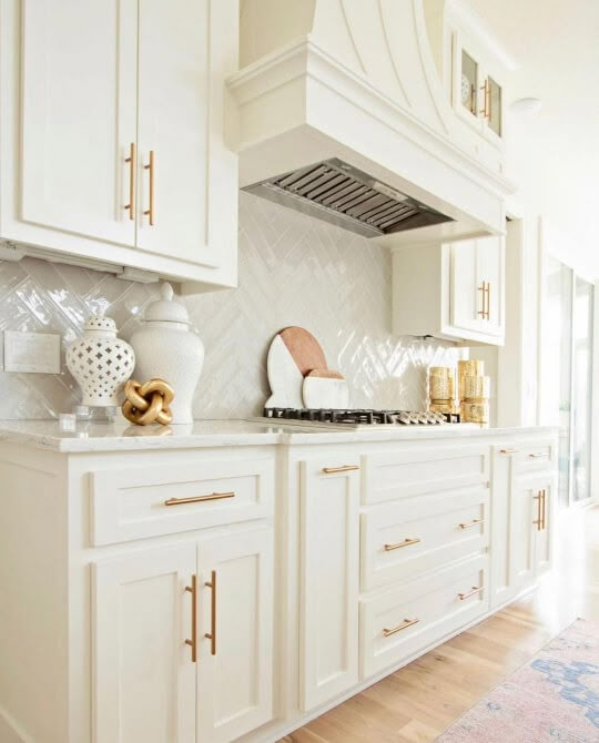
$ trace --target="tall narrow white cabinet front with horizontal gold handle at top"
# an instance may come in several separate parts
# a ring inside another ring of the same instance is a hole
[[[301,464],[304,710],[341,694],[358,680],[358,475],[357,462],[345,459]]]

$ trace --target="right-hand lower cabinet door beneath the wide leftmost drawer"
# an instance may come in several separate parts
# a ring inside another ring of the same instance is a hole
[[[200,542],[199,741],[229,743],[273,717],[273,560],[270,528]]]

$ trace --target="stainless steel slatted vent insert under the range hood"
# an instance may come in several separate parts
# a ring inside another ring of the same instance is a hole
[[[365,237],[453,221],[336,159],[277,175],[243,191]]]

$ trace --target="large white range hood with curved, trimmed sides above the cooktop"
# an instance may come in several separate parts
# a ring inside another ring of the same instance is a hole
[[[352,228],[347,217],[359,210],[339,214],[352,186],[341,167],[374,189],[363,201],[368,215],[407,214],[385,195],[422,207],[425,218],[408,214],[415,228],[408,220],[373,231],[379,242],[504,232],[512,187],[469,154],[473,133],[441,86],[423,0],[242,0],[241,9],[245,67],[227,83],[238,106],[241,187]],[[339,197],[305,199],[301,179],[318,196],[331,166]]]

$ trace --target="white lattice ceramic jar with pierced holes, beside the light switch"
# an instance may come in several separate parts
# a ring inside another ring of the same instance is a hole
[[[67,366],[83,390],[82,405],[114,407],[119,391],[133,375],[133,348],[116,337],[116,324],[104,315],[92,315],[83,335],[67,348]]]

